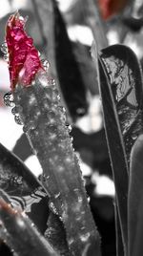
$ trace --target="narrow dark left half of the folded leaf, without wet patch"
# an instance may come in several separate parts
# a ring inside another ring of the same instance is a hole
[[[127,250],[128,165],[119,121],[112,96],[110,81],[101,59],[99,61],[99,67],[101,79],[100,94],[102,97],[105,130],[112,161],[113,180],[115,183],[116,201],[118,206],[122,236],[125,250]]]

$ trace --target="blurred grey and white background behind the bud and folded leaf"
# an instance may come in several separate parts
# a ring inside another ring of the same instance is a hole
[[[26,30],[42,57],[51,63],[72,125],[73,146],[86,182],[93,217],[102,237],[103,255],[115,255],[114,185],[98,92],[97,52],[126,44],[143,63],[142,0],[0,0],[0,44],[10,13],[28,16]],[[0,52],[0,142],[30,167],[41,167],[29,141],[3,103],[10,91],[8,63]]]

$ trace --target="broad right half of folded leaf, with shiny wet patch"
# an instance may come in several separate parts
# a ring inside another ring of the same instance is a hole
[[[111,84],[129,162],[133,143],[143,130],[141,68],[133,51],[123,45],[102,50],[101,59]]]

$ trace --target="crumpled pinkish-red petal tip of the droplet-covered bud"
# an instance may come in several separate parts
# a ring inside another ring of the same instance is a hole
[[[18,12],[10,16],[6,28],[6,42],[9,53],[10,87],[13,90],[20,82],[31,85],[39,69],[43,69],[33,40],[24,30],[26,20]]]

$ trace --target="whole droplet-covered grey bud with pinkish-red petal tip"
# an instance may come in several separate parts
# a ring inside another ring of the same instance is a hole
[[[51,209],[62,220],[72,255],[100,255],[100,239],[92,220],[78,160],[66,126],[65,110],[49,65],[40,60],[25,19],[10,16],[6,29],[11,95],[14,114],[31,142],[43,169],[43,183],[50,194]],[[19,116],[18,116],[19,115]]]

